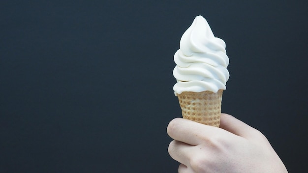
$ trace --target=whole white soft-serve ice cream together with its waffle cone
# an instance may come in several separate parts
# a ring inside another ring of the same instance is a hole
[[[173,89],[183,118],[219,127],[222,92],[229,79],[229,58],[225,42],[214,36],[202,16],[197,16],[183,34],[174,61],[177,83]]]

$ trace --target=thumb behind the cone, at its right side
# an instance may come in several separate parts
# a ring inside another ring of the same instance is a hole
[[[257,132],[256,129],[228,114],[221,114],[219,127],[244,138],[249,138]]]

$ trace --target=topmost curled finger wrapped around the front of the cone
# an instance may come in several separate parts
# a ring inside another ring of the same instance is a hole
[[[204,125],[188,119],[175,118],[167,127],[168,135],[176,141],[190,145],[198,145],[210,139],[211,136],[223,133],[217,127]]]

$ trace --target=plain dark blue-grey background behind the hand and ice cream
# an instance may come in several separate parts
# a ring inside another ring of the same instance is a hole
[[[306,172],[304,0],[1,0],[0,172],[176,173],[173,55],[197,15],[227,44],[222,112]]]

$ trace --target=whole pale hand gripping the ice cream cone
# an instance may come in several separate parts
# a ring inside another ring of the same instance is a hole
[[[175,118],[167,133],[179,173],[288,173],[266,137],[231,115],[220,128]]]

